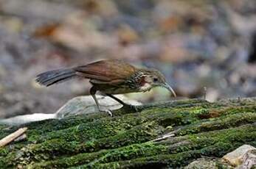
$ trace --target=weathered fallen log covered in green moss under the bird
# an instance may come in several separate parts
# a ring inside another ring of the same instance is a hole
[[[256,98],[187,99],[24,124],[27,140],[0,148],[1,168],[180,168],[256,146]],[[22,126],[0,126],[0,138]],[[156,138],[164,134],[165,139]]]

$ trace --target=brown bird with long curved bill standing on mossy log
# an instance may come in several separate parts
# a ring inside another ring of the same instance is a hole
[[[137,112],[137,107],[126,104],[115,94],[140,93],[147,92],[153,87],[165,87],[173,93],[173,88],[167,84],[165,76],[154,68],[136,68],[134,65],[128,64],[123,60],[100,60],[91,62],[87,65],[80,65],[73,68],[63,68],[54,71],[46,71],[38,74],[35,81],[46,87],[52,84],[66,82],[75,77],[89,79],[92,87],[89,90],[94,99],[97,109],[100,112],[107,112],[112,116],[110,109],[100,109],[99,101],[95,94],[100,91],[105,96],[113,98],[123,107]]]

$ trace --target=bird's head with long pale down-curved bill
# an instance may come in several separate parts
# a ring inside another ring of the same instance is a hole
[[[145,84],[148,84],[151,88],[153,87],[165,87],[167,90],[169,90],[171,93],[173,93],[173,96],[176,97],[176,93],[174,92],[173,88],[170,87],[169,84],[167,84],[165,76],[156,69],[148,69],[145,71],[145,78],[144,78]]]

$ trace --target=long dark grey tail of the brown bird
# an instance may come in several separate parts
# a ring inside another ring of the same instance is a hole
[[[77,75],[72,69],[60,69],[55,71],[46,71],[44,73],[38,74],[35,81],[44,86],[50,86],[52,84],[65,82],[75,76]]]

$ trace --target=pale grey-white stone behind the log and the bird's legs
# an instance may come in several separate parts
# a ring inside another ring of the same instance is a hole
[[[120,98],[122,101],[128,104],[141,105],[138,101],[131,100],[123,95],[117,95],[117,98]],[[122,104],[114,101],[114,99],[97,96],[98,101],[100,102],[101,109],[120,109]],[[52,114],[47,113],[33,113],[30,115],[17,115],[12,118],[5,118],[0,120],[0,124],[7,124],[11,126],[21,125],[24,123],[30,123],[32,121],[44,121],[46,119],[61,119],[71,115],[81,115],[81,114],[90,114],[93,112],[98,112],[95,101],[91,96],[78,96],[72,98],[63,107],[60,107],[57,112]]]

